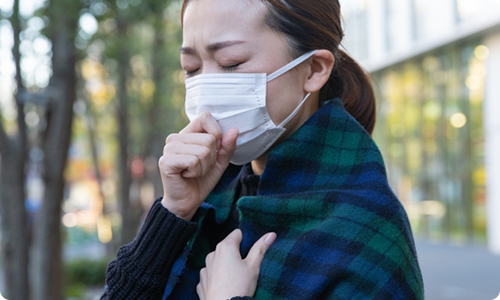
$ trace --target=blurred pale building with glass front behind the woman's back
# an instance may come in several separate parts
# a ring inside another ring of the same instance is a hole
[[[417,235],[500,253],[500,1],[344,0],[380,145]]]

